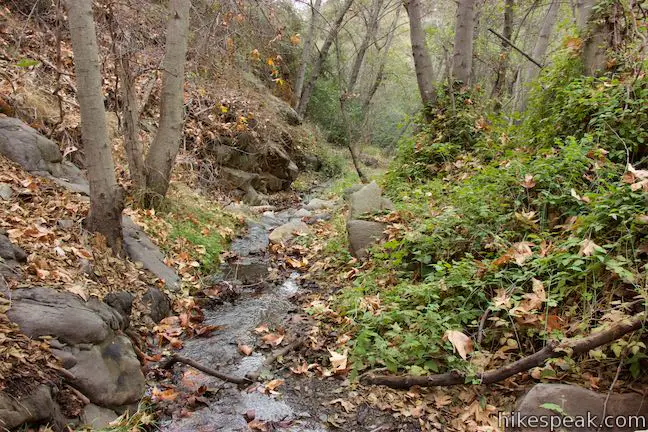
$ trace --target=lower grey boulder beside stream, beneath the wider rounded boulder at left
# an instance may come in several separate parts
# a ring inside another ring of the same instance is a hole
[[[70,352],[77,361],[68,369],[75,377],[74,386],[92,403],[117,407],[137,402],[144,395],[144,375],[126,336],[112,335],[90,349],[72,347]]]

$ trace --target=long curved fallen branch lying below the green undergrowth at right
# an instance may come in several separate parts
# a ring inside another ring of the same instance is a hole
[[[520,372],[541,366],[550,358],[576,356],[586,353],[589,350],[608,344],[630,332],[638,330],[643,326],[645,321],[646,312],[642,312],[632,318],[618,322],[606,330],[592,333],[581,339],[571,338],[562,343],[555,340],[549,341],[543,349],[535,354],[523,357],[520,360],[502,366],[501,368],[479,373],[475,378],[479,380],[479,384],[492,384]],[[458,371],[451,371],[444,374],[427,376],[389,376],[368,374],[363,376],[361,381],[365,384],[384,385],[395,389],[408,389],[415,385],[421,387],[435,387],[465,384],[467,378],[471,377],[467,377],[465,374]]]

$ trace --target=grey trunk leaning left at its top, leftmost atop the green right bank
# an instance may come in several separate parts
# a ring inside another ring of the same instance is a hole
[[[421,0],[406,0],[405,10],[409,16],[410,39],[412,43],[412,57],[414,57],[414,69],[416,70],[416,82],[418,83],[423,110],[429,120],[429,107],[436,102],[436,89],[432,78],[434,70],[432,59],[425,41],[425,30],[421,22]]]

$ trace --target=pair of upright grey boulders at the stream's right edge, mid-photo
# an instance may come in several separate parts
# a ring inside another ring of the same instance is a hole
[[[349,249],[353,256],[363,260],[367,258],[368,248],[383,236],[386,225],[360,218],[393,210],[394,205],[388,198],[382,196],[382,190],[375,182],[362,187],[349,188],[345,195],[349,199],[347,221]]]

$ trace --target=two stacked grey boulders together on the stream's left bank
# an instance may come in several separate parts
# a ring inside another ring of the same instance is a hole
[[[74,377],[72,385],[92,403],[119,407],[137,402],[144,375],[130,340],[121,335],[128,322],[95,297],[50,288],[12,292],[11,321],[31,338],[50,336],[52,354]]]

